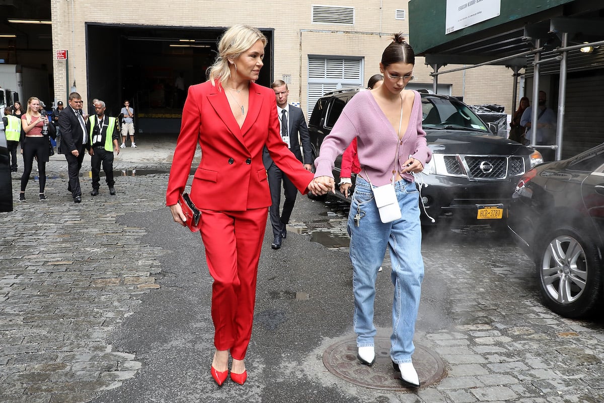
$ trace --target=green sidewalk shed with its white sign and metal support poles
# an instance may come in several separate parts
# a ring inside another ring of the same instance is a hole
[[[559,160],[567,74],[604,68],[603,16],[602,0],[410,0],[410,43],[434,68],[434,92],[439,74],[509,66],[514,71],[512,109],[519,69],[533,76],[532,105],[538,103],[539,76],[559,74],[556,144],[536,144],[536,125],[530,136],[533,147],[554,149]],[[582,47],[590,48],[588,57],[580,53]],[[439,72],[448,64],[464,66]],[[532,109],[532,121],[538,120],[537,109]]]

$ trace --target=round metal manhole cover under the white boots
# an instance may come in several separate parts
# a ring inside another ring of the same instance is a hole
[[[329,372],[338,378],[345,379],[356,385],[373,389],[388,389],[408,392],[413,389],[403,387],[399,372],[392,367],[390,359],[390,339],[375,338],[376,362],[368,367],[356,358],[356,338],[342,341],[327,347],[323,354],[323,364]],[[422,387],[433,384],[445,376],[445,366],[442,359],[420,344],[415,343],[413,366],[419,375]]]

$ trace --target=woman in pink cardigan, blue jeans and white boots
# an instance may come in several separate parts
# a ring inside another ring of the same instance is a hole
[[[431,158],[422,129],[422,100],[416,91],[405,90],[413,78],[414,63],[413,49],[402,34],[396,34],[382,53],[384,83],[358,92],[344,107],[321,145],[314,179],[317,185],[335,191],[333,162],[356,137],[361,171],[356,176],[348,231],[358,358],[369,366],[375,361],[375,281],[388,248],[394,285],[390,357],[403,384],[409,387],[420,385],[411,356],[423,280],[419,192],[413,175],[422,172]],[[396,213],[400,209],[400,218],[381,216],[377,187],[391,192],[391,207]]]

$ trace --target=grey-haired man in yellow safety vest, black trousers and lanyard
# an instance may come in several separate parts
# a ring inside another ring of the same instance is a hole
[[[105,172],[109,194],[115,195],[115,180],[113,175],[113,153],[120,153],[120,132],[117,128],[117,119],[105,115],[105,103],[96,100],[94,103],[96,115],[91,115],[86,122],[86,129],[90,137],[88,153],[91,156],[92,166],[92,192],[91,196],[98,195],[100,187],[101,163]]]

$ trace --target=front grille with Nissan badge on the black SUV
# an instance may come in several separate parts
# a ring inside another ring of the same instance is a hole
[[[506,179],[524,173],[524,158],[515,155],[445,155],[443,162],[449,175],[475,180]]]

